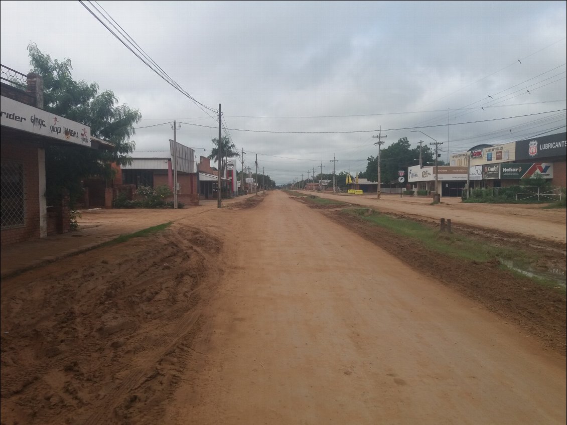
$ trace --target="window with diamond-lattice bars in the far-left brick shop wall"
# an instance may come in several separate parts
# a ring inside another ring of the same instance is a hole
[[[24,166],[14,161],[2,161],[1,166],[1,228],[26,224],[26,193]]]

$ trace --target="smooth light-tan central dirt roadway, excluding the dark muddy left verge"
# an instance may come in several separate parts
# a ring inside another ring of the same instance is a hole
[[[227,239],[168,421],[565,422],[563,358],[284,193]]]

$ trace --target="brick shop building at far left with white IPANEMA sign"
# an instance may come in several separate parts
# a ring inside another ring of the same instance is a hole
[[[69,199],[45,197],[45,148],[96,147],[90,128],[43,110],[41,76],[1,66],[1,244],[70,230]],[[102,141],[100,141],[102,142]]]

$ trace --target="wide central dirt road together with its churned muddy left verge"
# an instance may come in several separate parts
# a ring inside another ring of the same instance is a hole
[[[566,420],[565,356],[278,191],[1,289],[2,424]]]

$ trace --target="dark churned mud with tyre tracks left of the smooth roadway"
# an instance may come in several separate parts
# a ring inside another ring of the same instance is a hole
[[[192,226],[2,282],[2,423],[159,423],[221,241]]]

